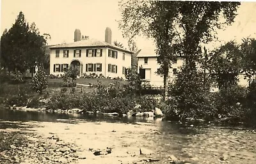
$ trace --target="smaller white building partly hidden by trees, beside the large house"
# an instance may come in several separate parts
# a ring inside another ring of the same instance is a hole
[[[160,63],[157,60],[156,53],[151,48],[141,49],[138,54],[138,73],[145,84],[150,84],[154,87],[163,87],[164,78],[157,74],[157,70],[160,68]],[[175,74],[180,71],[184,59],[177,57],[177,60],[172,64],[172,68],[169,70],[169,80],[173,81]]]

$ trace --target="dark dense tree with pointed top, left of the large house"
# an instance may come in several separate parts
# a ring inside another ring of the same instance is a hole
[[[40,35],[35,23],[30,26],[20,11],[13,26],[1,36],[1,66],[21,73],[42,63],[49,34]]]

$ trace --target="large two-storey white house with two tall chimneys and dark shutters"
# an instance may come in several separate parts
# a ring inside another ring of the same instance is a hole
[[[111,30],[107,27],[105,41],[84,39],[76,29],[73,43],[64,43],[49,47],[50,74],[61,75],[70,65],[79,69],[79,76],[83,73],[102,74],[104,77],[125,78],[126,68],[131,67],[132,52],[124,48],[111,45]]]

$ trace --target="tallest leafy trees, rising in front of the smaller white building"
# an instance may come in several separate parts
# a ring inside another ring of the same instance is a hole
[[[200,43],[211,41],[216,29],[231,24],[239,4],[206,1],[121,1],[122,19],[119,27],[129,41],[141,34],[154,38],[166,91],[168,69],[172,66],[175,54],[185,57],[186,73],[195,72],[193,70],[196,70],[196,62],[201,54]]]

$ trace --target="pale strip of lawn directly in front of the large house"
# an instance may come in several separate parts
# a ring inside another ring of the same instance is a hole
[[[97,84],[97,81],[102,82],[103,86],[108,86],[109,83],[115,83],[120,82],[120,84],[128,84],[127,80],[113,80],[108,78],[78,78],[76,80],[77,84],[92,84],[92,86],[95,86]],[[62,78],[49,78],[48,79],[49,87],[61,87],[63,84]]]

